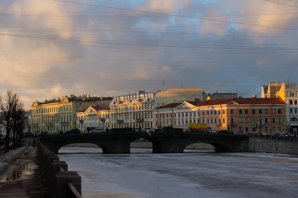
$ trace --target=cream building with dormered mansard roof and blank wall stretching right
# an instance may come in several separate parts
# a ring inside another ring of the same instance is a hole
[[[173,102],[203,100],[202,88],[169,89],[154,92],[137,91],[114,97],[110,103],[111,128],[153,128],[153,109]]]

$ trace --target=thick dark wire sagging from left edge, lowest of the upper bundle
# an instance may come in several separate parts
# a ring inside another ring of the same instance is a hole
[[[53,0],[54,1],[54,0]],[[64,44],[70,44],[70,45],[79,45],[79,46],[91,46],[91,47],[102,47],[102,48],[111,48],[111,49],[121,49],[121,50],[135,50],[135,51],[154,51],[154,52],[168,52],[168,53],[188,53],[188,54],[273,54],[273,53],[295,53],[298,51],[280,51],[280,52],[187,52],[187,51],[161,51],[161,50],[146,50],[146,49],[130,49],[130,48],[120,48],[120,47],[107,47],[107,46],[95,46],[95,45],[84,45],[84,44],[78,44],[78,43],[67,43],[67,42],[58,42],[58,41],[51,41],[51,40],[44,40],[44,39],[37,39],[37,38],[31,38],[31,37],[25,37],[25,36],[17,36],[17,35],[11,35],[11,34],[3,34],[0,33],[0,35],[4,36],[13,36],[13,37],[20,37],[20,38],[27,38],[31,40],[38,40],[38,41],[46,41],[46,42],[55,42],[55,43],[64,43]],[[56,39],[58,40],[58,39]]]

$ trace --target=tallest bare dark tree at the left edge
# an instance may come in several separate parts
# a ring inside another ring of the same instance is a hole
[[[16,146],[16,134],[21,133],[23,128],[18,125],[19,118],[25,114],[24,105],[20,100],[20,96],[12,89],[7,89],[5,96],[0,96],[0,110],[3,114],[3,123],[6,127],[5,152],[9,151],[9,141],[12,136],[12,144]],[[20,121],[21,123],[21,121]],[[11,135],[12,134],[12,135]]]

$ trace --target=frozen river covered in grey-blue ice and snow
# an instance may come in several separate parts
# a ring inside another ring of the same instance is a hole
[[[103,155],[100,148],[62,147],[82,177],[84,198],[298,197],[298,156],[260,153]],[[82,154],[93,153],[93,154]],[[74,154],[77,153],[77,154]]]

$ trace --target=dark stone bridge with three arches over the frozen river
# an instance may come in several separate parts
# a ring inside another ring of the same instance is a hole
[[[90,133],[56,134],[40,137],[50,152],[58,154],[61,147],[73,143],[92,143],[105,154],[130,154],[130,143],[137,139],[152,142],[153,153],[183,153],[194,143],[208,143],[216,152],[247,152],[249,136],[214,133]]]

